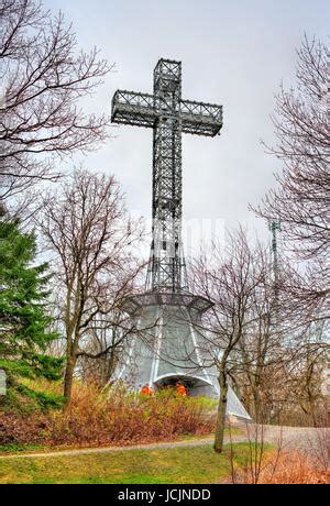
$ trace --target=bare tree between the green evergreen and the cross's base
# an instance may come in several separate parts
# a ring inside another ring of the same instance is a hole
[[[75,172],[69,185],[44,199],[37,221],[55,255],[56,305],[66,340],[64,395],[69,403],[78,359],[99,359],[134,331],[121,307],[142,268],[134,251],[141,223],[129,220],[112,176],[87,170]],[[105,323],[106,329],[116,328],[113,339],[90,351],[91,334],[103,332]]]

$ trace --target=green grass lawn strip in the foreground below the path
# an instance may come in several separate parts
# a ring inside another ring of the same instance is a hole
[[[235,443],[243,464],[249,444]],[[229,447],[228,447],[229,448]],[[0,483],[219,483],[230,475],[229,453],[209,444],[94,454],[0,459]]]

